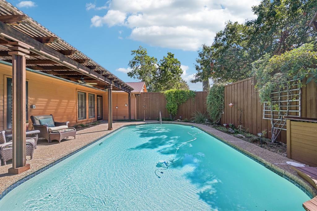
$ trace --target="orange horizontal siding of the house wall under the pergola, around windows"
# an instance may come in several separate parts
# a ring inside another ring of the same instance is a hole
[[[0,130],[7,129],[7,83],[8,77],[11,78],[12,67],[10,65],[0,64]],[[97,121],[97,115],[94,118],[88,118],[88,93],[103,96],[103,113],[107,109],[107,95],[104,91],[73,84],[57,78],[44,76],[31,71],[26,72],[28,81],[28,120],[31,115],[50,115],[54,116],[55,121],[69,121],[70,126],[85,124]],[[87,93],[87,116],[84,120],[77,120],[77,91]],[[126,94],[127,95],[127,94]],[[97,108],[97,97],[95,96],[95,110]],[[30,106],[35,105],[35,109]],[[31,123],[29,123],[31,127]]]

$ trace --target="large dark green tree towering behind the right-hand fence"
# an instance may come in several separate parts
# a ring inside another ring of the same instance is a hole
[[[263,0],[252,10],[256,19],[227,22],[212,45],[198,51],[193,82],[207,77],[216,83],[235,82],[250,77],[251,63],[266,53],[280,55],[305,43],[317,44],[317,32],[308,26],[315,0]]]

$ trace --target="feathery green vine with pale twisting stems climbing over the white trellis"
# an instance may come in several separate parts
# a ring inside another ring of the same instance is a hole
[[[282,90],[290,90],[294,84],[301,88],[302,80],[307,78],[306,83],[314,80],[317,83],[317,52],[312,44],[305,44],[299,48],[288,51],[281,55],[264,55],[261,59],[253,62],[252,72],[256,76],[255,88],[257,89],[261,103],[266,103],[271,110],[272,142],[281,132],[275,127],[273,111],[279,111],[280,98],[272,100],[271,93],[280,93]],[[287,91],[289,93],[289,91]],[[292,93],[291,93],[292,94]],[[287,111],[288,106],[287,104]],[[287,112],[288,113],[288,112]],[[287,115],[286,113],[286,115]],[[281,117],[282,118],[282,117]]]

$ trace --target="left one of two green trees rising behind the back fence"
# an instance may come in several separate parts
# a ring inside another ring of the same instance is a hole
[[[157,59],[147,55],[146,48],[142,46],[131,52],[134,57],[129,62],[131,71],[128,72],[128,76],[145,82],[147,90],[153,91],[153,79],[157,72]]]

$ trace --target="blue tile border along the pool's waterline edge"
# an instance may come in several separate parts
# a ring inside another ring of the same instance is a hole
[[[53,163],[51,163],[51,164],[49,164],[49,165],[47,165],[47,166],[44,166],[43,168],[41,168],[41,169],[39,169],[39,170],[37,170],[37,171],[35,171],[35,172],[33,172],[33,173],[27,175],[26,177],[23,177],[23,178],[20,179],[19,181],[13,183],[12,185],[10,185],[8,188],[6,188],[6,189],[0,194],[0,200],[3,199],[3,197],[4,197],[5,195],[7,195],[11,190],[15,189],[16,187],[18,187],[18,186],[21,185],[22,183],[28,181],[29,179],[35,177],[36,175],[42,173],[43,171],[45,171],[45,170],[51,168],[52,166],[54,166],[54,165],[60,163],[61,161],[65,160],[66,158],[69,158],[70,156],[74,155],[75,153],[77,153],[77,152],[79,152],[79,151],[81,151],[81,150],[87,148],[88,146],[91,146],[92,144],[96,143],[97,141],[99,141],[99,140],[101,140],[101,139],[104,139],[105,137],[109,136],[110,134],[119,131],[121,128],[123,128],[123,127],[129,127],[129,126],[136,126],[136,125],[144,125],[144,124],[157,124],[157,122],[146,122],[146,123],[143,123],[143,124],[129,124],[129,125],[121,126],[121,127],[119,127],[118,129],[113,130],[112,132],[110,132],[110,133],[108,133],[108,134],[106,134],[106,135],[104,135],[104,136],[102,136],[102,137],[100,137],[100,138],[98,138],[98,139],[96,139],[96,140],[90,142],[89,144],[87,144],[87,145],[81,147],[80,149],[75,150],[74,152],[71,152],[70,154],[68,154],[68,155],[66,155],[66,156],[64,156],[64,157],[62,157],[62,158],[60,158],[60,159],[54,161]],[[256,161],[257,163],[261,164],[262,166],[264,166],[264,167],[267,168],[268,170],[270,170],[270,171],[274,172],[275,174],[277,174],[277,175],[279,175],[279,176],[281,176],[281,177],[287,179],[289,182],[293,183],[296,187],[298,187],[299,189],[301,189],[306,195],[308,195],[308,197],[314,198],[313,193],[311,193],[307,188],[305,188],[301,183],[297,182],[295,179],[289,177],[288,175],[286,175],[285,173],[281,172],[280,170],[278,170],[278,169],[276,169],[276,168],[273,168],[273,167],[270,166],[269,164],[264,163],[264,162],[261,161],[260,159],[256,158],[255,155],[253,155],[253,154],[251,154],[251,153],[249,153],[249,152],[247,153],[246,151],[239,149],[237,146],[235,146],[235,145],[233,145],[233,144],[231,144],[231,143],[229,143],[229,142],[227,142],[227,141],[222,140],[221,138],[217,137],[216,135],[214,135],[214,134],[212,134],[212,133],[210,133],[210,132],[208,132],[208,131],[205,131],[204,129],[202,129],[202,128],[200,128],[200,127],[197,127],[197,126],[191,125],[191,124],[179,124],[179,123],[172,123],[172,122],[171,122],[171,123],[168,122],[168,123],[164,123],[164,124],[177,124],[177,125],[184,125],[184,126],[193,126],[193,127],[196,127],[197,129],[202,130],[202,131],[204,131],[205,133],[210,134],[211,136],[215,137],[217,140],[223,142],[224,144],[226,144],[226,145],[230,146],[231,148],[235,149],[236,151],[242,153],[243,155],[247,156],[248,158],[251,158],[252,160],[254,160],[254,161]]]

